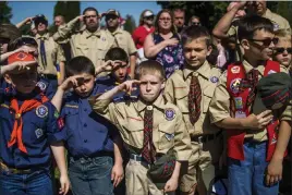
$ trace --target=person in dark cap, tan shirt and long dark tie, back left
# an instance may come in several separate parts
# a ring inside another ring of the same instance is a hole
[[[64,51],[48,33],[48,20],[39,14],[34,19],[37,29],[39,73],[57,88],[64,80]],[[57,83],[58,82],[58,83]]]

